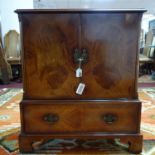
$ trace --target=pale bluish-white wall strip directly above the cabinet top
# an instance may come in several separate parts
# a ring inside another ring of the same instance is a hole
[[[145,8],[155,14],[155,0],[33,0],[34,8]]]

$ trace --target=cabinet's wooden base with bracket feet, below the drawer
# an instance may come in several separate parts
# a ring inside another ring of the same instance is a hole
[[[105,150],[120,153],[127,150],[138,154],[142,151],[142,141],[140,134],[20,134],[19,148],[21,153],[92,153]]]

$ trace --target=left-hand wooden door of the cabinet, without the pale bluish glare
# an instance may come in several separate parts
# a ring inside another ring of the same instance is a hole
[[[22,15],[25,98],[75,96],[79,19],[74,13]]]

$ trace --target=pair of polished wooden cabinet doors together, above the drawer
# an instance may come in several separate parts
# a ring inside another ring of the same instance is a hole
[[[22,15],[24,97],[89,99],[136,97],[139,14],[33,13]],[[83,76],[74,49],[86,48]],[[76,94],[79,83],[82,95]]]

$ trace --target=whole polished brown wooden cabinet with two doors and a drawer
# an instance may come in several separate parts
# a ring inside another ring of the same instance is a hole
[[[21,152],[63,152],[67,144],[84,146],[83,139],[116,138],[141,152],[137,66],[144,11],[16,10]]]

